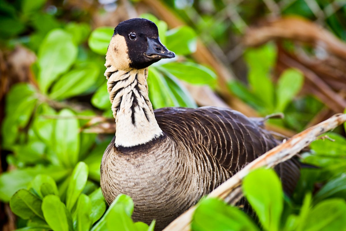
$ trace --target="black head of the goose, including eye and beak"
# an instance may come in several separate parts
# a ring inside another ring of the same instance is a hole
[[[119,39],[118,35],[125,38],[130,68],[146,68],[160,59],[175,56],[160,42],[155,23],[147,19],[133,18],[122,21],[114,29],[112,39]],[[113,49],[116,51],[124,48],[114,47]]]

